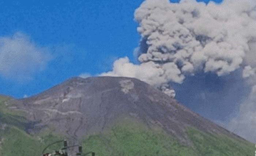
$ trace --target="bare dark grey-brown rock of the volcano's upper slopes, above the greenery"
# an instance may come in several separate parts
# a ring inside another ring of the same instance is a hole
[[[41,94],[16,101],[33,123],[30,130],[54,128],[73,141],[102,132],[115,119],[133,116],[148,127],[160,126],[190,145],[187,126],[242,139],[193,113],[161,91],[127,77],[75,77]]]

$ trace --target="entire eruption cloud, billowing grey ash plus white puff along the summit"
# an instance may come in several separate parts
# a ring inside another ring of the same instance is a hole
[[[169,82],[182,83],[187,76],[199,72],[225,76],[242,68],[241,76],[256,86],[255,0],[207,5],[196,0],[146,0],[134,16],[142,37],[135,49],[140,64],[120,58],[114,62],[113,71],[102,76],[136,77],[174,96]],[[247,129],[256,128],[256,110],[251,109],[256,107],[253,97],[255,89],[241,104],[240,115],[230,123],[230,127],[244,123],[240,134],[251,141],[256,140],[256,134]]]

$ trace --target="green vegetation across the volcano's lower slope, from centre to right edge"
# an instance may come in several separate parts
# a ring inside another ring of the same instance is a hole
[[[119,122],[107,133],[87,137],[83,147],[97,156],[252,156],[255,145],[189,128],[193,147],[184,147],[161,130],[138,122]]]

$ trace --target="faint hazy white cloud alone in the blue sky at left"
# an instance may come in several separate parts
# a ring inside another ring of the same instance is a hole
[[[23,33],[0,37],[0,76],[14,80],[32,79],[50,60],[46,47],[37,46]]]

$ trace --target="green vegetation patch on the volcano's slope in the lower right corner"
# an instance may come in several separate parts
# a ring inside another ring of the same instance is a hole
[[[247,141],[203,133],[194,128],[188,129],[188,135],[195,146],[195,150],[202,156],[255,155],[255,145]]]

